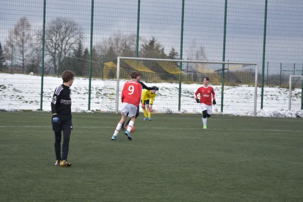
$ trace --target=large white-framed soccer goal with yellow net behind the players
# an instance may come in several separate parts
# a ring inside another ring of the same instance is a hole
[[[217,102],[213,114],[256,116],[257,63],[118,57],[116,67],[109,70],[117,76],[116,113],[130,72],[140,71],[145,85],[159,87],[153,105],[156,113],[200,114],[194,93],[209,77]]]

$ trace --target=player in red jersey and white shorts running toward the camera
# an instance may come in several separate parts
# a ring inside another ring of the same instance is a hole
[[[209,86],[210,78],[205,77],[203,80],[203,86],[199,87],[194,93],[197,103],[200,103],[203,114],[203,129],[207,129],[207,118],[212,115],[212,94],[213,94],[213,105],[216,105],[216,97],[214,88]],[[200,99],[197,95],[200,94]]]

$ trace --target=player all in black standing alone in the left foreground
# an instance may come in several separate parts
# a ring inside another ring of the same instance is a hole
[[[51,107],[52,107],[52,125],[55,132],[55,154],[56,166],[71,166],[72,163],[67,161],[69,140],[71,135],[72,113],[71,113],[71,88],[74,82],[74,72],[67,70],[62,74],[63,84],[55,89]],[[61,137],[63,131],[63,144],[61,156]]]

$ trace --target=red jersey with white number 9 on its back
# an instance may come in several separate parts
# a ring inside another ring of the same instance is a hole
[[[136,80],[127,81],[122,90],[122,103],[139,106],[142,93],[142,85]]]

